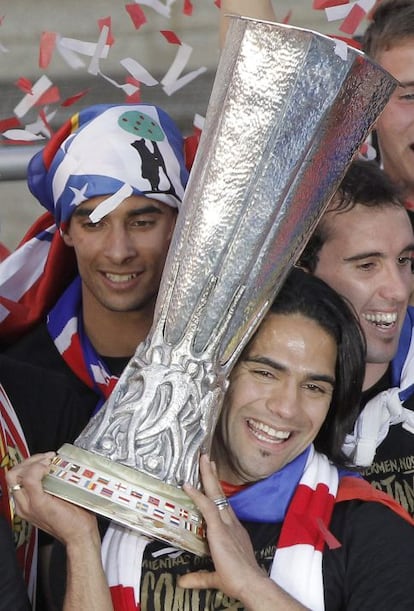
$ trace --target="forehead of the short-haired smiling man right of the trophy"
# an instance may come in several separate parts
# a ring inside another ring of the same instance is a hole
[[[393,205],[368,207],[357,204],[351,210],[329,210],[324,216],[327,239],[324,246],[358,247],[364,251],[402,252],[414,242],[407,211]]]

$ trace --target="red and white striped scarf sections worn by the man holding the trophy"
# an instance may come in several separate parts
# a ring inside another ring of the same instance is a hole
[[[324,546],[326,543],[331,547],[339,545],[328,531],[338,482],[338,469],[312,447],[283,520],[270,571],[271,579],[314,611],[325,608]],[[115,611],[140,608],[141,564],[148,542],[147,537],[115,524],[110,525],[105,535],[102,559]]]

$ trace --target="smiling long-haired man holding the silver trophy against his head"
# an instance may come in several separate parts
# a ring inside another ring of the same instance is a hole
[[[94,516],[42,490],[53,453],[13,468],[19,514],[67,546],[65,611],[411,611],[413,521],[342,452],[364,348],[343,299],[294,270],[230,375],[205,494],[184,485],[211,558],[114,524],[101,550]]]

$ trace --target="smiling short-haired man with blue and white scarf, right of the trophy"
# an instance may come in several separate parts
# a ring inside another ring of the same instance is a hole
[[[364,476],[412,515],[413,250],[398,189],[375,162],[355,161],[298,262],[346,297],[358,315],[367,341],[361,406],[372,401],[370,413],[378,417],[363,425],[363,412],[363,429],[349,438],[349,451],[358,441]]]

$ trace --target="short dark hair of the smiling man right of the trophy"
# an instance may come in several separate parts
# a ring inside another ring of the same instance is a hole
[[[300,255],[298,266],[312,274],[315,272],[319,252],[329,237],[330,215],[346,213],[357,204],[377,209],[388,206],[404,208],[399,187],[375,161],[353,161]]]

